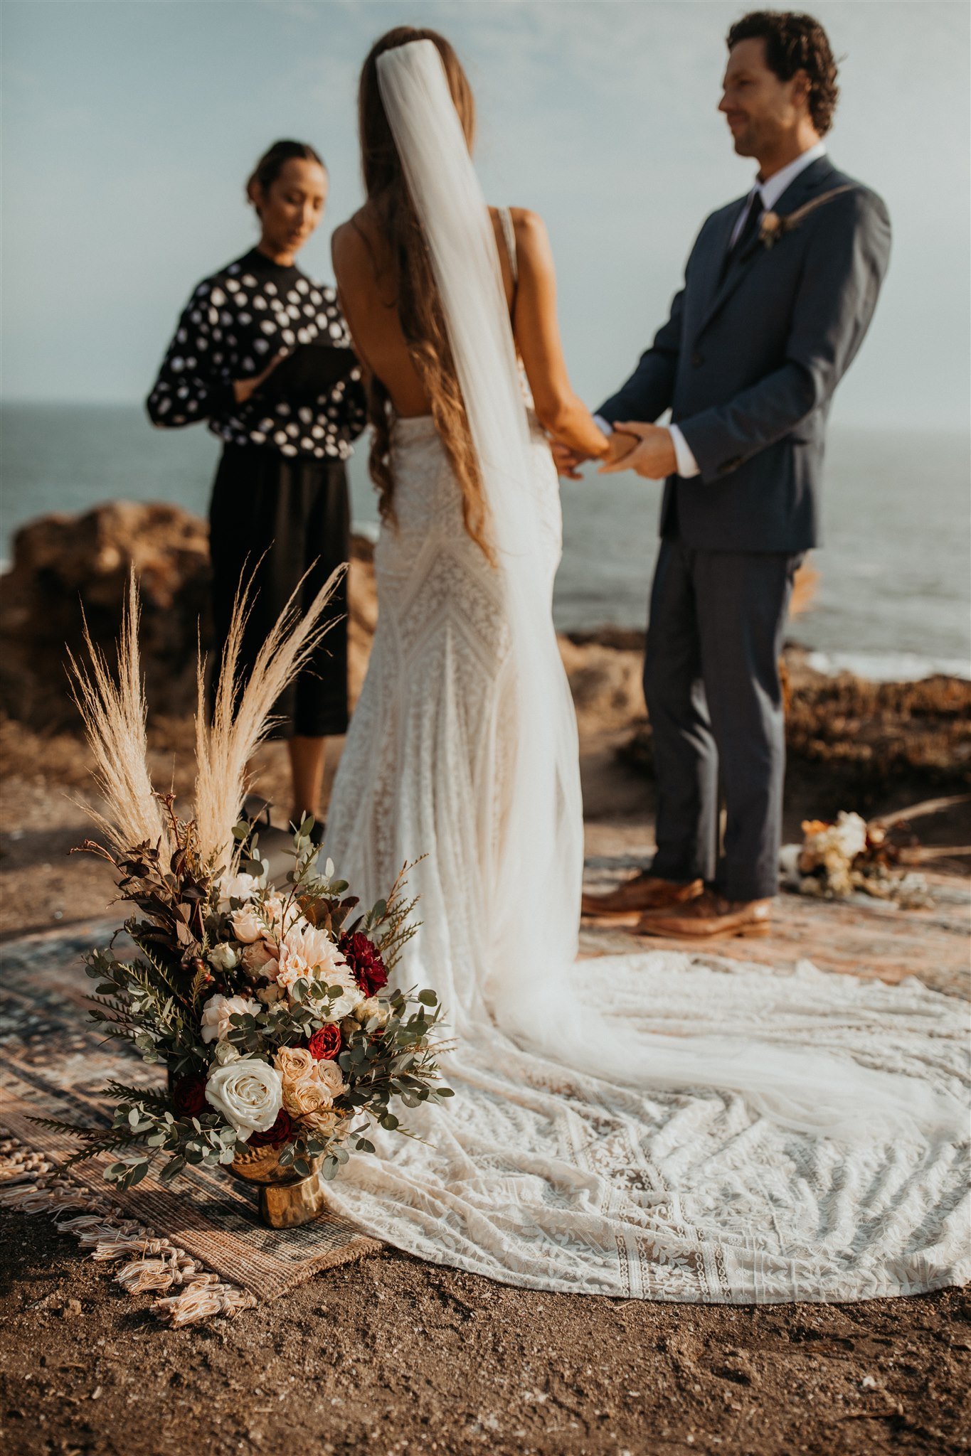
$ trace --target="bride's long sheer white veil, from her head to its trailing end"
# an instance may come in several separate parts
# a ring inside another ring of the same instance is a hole
[[[512,795],[489,901],[485,1002],[520,1045],[638,1088],[715,1086],[789,1125],[849,1134],[866,1117],[952,1123],[955,1107],[916,1077],[852,1057],[734,1040],[699,1006],[697,1032],[657,1034],[604,1015],[597,984],[617,960],[576,962],[582,807],[576,725],[540,559],[542,521],[515,345],[485,197],[431,41],[380,55],[384,111],[441,293],[514,658]],[[657,954],[657,952],[655,952]],[[630,958],[626,958],[629,961]],[[646,957],[643,958],[646,960]]]

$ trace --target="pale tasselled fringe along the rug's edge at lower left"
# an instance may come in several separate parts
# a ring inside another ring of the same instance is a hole
[[[194,1325],[220,1315],[233,1319],[256,1305],[249,1290],[223,1283],[185,1249],[169,1239],[156,1239],[137,1219],[71,1184],[41,1153],[32,1153],[16,1139],[0,1142],[0,1207],[51,1214],[58,1229],[92,1251],[95,1262],[125,1259],[115,1273],[115,1283],[127,1294],[182,1286],[178,1294],[151,1302],[156,1316],[166,1325]],[[64,1217],[71,1213],[74,1217]]]

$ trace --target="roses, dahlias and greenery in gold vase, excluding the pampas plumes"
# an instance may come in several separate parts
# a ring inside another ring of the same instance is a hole
[[[399,877],[367,914],[328,862],[316,872],[312,820],[294,836],[284,890],[268,884],[249,842],[245,868],[211,875],[192,821],[175,818],[166,862],[148,843],[111,860],[124,900],[138,907],[125,930],[138,952],[122,960],[92,951],[98,981],[92,1018],[132,1042],[144,1061],[165,1063],[167,1089],[109,1083],[111,1127],[47,1123],[84,1140],[71,1162],[119,1152],[105,1176],[140,1182],[166,1158],[169,1181],[188,1165],[231,1163],[256,1147],[278,1149],[294,1175],[317,1165],[333,1178],[355,1150],[373,1152],[374,1124],[400,1130],[392,1098],[416,1107],[451,1096],[437,1085],[434,992],[387,987],[413,935]],[[240,840],[249,826],[239,826]]]

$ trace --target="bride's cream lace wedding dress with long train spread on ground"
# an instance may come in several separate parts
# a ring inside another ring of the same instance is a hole
[[[528,448],[552,596],[558,482],[537,432]],[[964,1016],[948,997],[649,952],[565,965],[542,1026],[527,977],[496,1010],[507,604],[431,419],[397,422],[392,466],[397,526],[376,549],[379,625],[326,850],[365,900],[425,856],[397,978],[447,1008],[456,1096],[409,1115],[424,1142],[381,1134],[351,1159],[333,1204],[421,1258],[534,1289],[767,1303],[959,1283]],[[839,1136],[801,1125],[814,1076],[849,1099]],[[913,1093],[914,1115],[853,1130],[855,1088],[860,1107]]]

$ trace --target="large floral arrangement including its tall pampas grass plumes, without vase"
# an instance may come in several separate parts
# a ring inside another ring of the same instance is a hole
[[[320,641],[323,609],[339,572],[300,613],[297,594],[261,648],[246,681],[240,646],[246,591],[237,598],[205,711],[198,664],[195,805],[156,794],[147,759],[147,708],[138,657],[134,577],[118,642],[118,670],[90,642],[87,665],[71,658],[74,697],[95,759],[105,814],[102,842],[82,847],[108,859],[135,955],[92,951],[92,1016],[167,1069],[167,1088],[111,1082],[111,1127],[45,1121],[83,1140],[71,1162],[116,1152],[106,1178],[140,1182],[156,1159],[160,1178],[186,1165],[272,1155],[284,1176],[316,1169],[333,1178],[352,1152],[371,1152],[376,1124],[393,1131],[393,1098],[405,1107],[451,1096],[438,1085],[440,1008],[429,990],[389,990],[389,973],[413,935],[405,874],[387,900],[361,913],[333,865],[317,872],[312,820],[294,836],[284,888],[268,882],[252,826],[240,821],[246,764],[265,737],[274,703]]]

